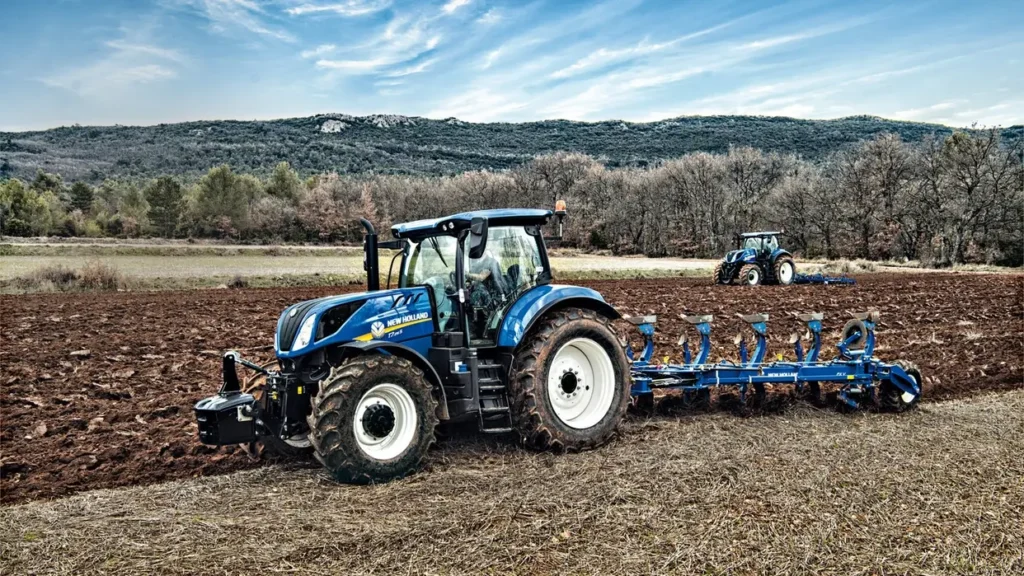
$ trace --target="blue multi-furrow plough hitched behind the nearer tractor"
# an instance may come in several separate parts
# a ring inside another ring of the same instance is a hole
[[[765,384],[792,385],[799,395],[812,399],[820,399],[821,384],[833,384],[838,387],[837,398],[849,408],[871,404],[887,410],[903,411],[921,400],[922,377],[915,366],[903,361],[887,364],[873,358],[878,311],[854,315],[853,320],[844,327],[837,344],[839,356],[829,361],[818,359],[821,349],[821,314],[798,316],[807,329],[810,347],[805,351],[800,336],[793,334],[790,342],[794,345],[795,362],[781,360],[781,355],[778,360],[766,360],[767,314],[740,315],[750,324],[755,342],[751,352],[746,336],[736,337],[739,363],[725,360],[717,364],[709,362],[711,316],[681,318],[695,329],[699,337],[699,347],[695,352],[691,349],[685,333],[679,339],[683,364],[652,362],[656,317],[626,319],[644,337],[644,346],[639,355],[628,342],[626,344],[633,379],[631,394],[637,405],[652,404],[655,389],[678,390],[690,401],[707,402],[712,388],[730,387],[738,393],[740,404],[745,406],[749,401],[764,400]]]

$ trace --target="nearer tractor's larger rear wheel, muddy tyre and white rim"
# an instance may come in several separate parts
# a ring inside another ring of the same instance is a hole
[[[630,403],[630,368],[608,319],[566,308],[519,346],[509,382],[514,427],[536,449],[578,452],[615,434]]]

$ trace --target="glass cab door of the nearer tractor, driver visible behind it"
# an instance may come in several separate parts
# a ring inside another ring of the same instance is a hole
[[[509,306],[524,292],[550,279],[541,257],[540,231],[496,227],[487,231],[483,254],[465,251],[466,298],[470,341],[494,345]]]

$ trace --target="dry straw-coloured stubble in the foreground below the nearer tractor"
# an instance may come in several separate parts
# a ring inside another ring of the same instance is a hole
[[[1012,392],[904,415],[631,419],[577,455],[454,440],[384,486],[263,468],[8,506],[0,560],[67,574],[1020,574],[1022,429]]]

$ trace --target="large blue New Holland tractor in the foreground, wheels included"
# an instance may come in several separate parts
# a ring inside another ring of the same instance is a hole
[[[442,421],[538,449],[607,442],[630,365],[615,310],[552,281],[542,231],[563,206],[401,223],[387,242],[362,220],[368,290],[285,310],[270,365],[226,353],[220,393],[196,406],[201,441],[313,454],[347,483],[416,470]],[[395,251],[384,289],[381,248]],[[240,379],[239,366],[255,376]]]

